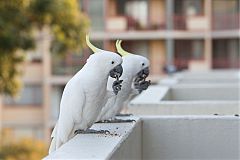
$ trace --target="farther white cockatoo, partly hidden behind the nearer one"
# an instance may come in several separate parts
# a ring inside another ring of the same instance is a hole
[[[149,60],[143,56],[126,52],[121,47],[121,41],[116,42],[118,53],[123,59],[123,74],[121,76],[122,88],[119,93],[108,99],[102,108],[97,121],[112,119],[116,114],[120,113],[124,102],[128,100],[130,95],[141,93],[150,85],[150,81],[145,81],[149,75]],[[108,85],[113,83],[114,79],[108,79]]]

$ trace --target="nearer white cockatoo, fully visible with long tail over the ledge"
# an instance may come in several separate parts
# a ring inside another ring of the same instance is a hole
[[[122,57],[93,46],[88,35],[87,45],[94,51],[83,68],[66,84],[60,102],[58,122],[52,132],[49,153],[71,139],[76,131],[87,132],[96,121],[107,99],[121,89]],[[107,91],[108,77],[116,78],[113,91]]]

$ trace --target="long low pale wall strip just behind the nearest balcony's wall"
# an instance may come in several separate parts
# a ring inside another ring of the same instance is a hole
[[[239,102],[188,101],[162,102],[161,104],[139,104],[128,107],[134,115],[234,115],[240,113]]]

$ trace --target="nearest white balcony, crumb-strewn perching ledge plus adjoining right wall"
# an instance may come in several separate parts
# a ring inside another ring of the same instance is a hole
[[[110,134],[79,134],[48,159],[238,159],[236,116],[127,117],[133,123],[95,124]]]

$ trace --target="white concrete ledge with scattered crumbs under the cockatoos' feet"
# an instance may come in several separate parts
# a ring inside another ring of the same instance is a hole
[[[50,159],[141,159],[141,123],[98,123],[92,129],[109,130],[106,134],[79,134],[57,151],[44,158]],[[133,135],[134,134],[134,135]]]

